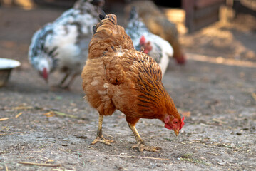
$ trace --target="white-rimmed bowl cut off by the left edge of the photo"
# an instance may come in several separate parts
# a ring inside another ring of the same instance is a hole
[[[0,87],[6,85],[9,80],[11,70],[18,66],[21,66],[19,61],[8,58],[0,58]]]

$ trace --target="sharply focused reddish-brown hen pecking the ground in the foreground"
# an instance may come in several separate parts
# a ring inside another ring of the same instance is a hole
[[[178,135],[183,120],[173,100],[163,87],[162,72],[158,63],[145,53],[136,51],[123,27],[116,23],[116,16],[101,15],[101,22],[93,27],[94,35],[89,44],[88,59],[81,74],[83,90],[88,102],[99,113],[98,131],[92,142],[110,145],[102,135],[104,115],[118,109],[135,135],[138,150],[158,151],[146,146],[135,124],[140,118],[160,119],[165,128]]]

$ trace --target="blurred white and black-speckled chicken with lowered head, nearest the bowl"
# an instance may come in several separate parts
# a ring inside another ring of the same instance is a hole
[[[46,82],[51,72],[61,71],[65,76],[58,86],[68,88],[81,74],[93,35],[92,27],[98,23],[103,5],[104,0],[78,0],[72,9],[34,33],[29,62]],[[66,81],[68,76],[71,76],[70,81]],[[64,85],[65,82],[68,83]]]

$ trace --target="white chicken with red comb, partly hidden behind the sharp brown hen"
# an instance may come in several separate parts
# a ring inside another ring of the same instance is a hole
[[[126,33],[133,40],[137,51],[142,51],[151,56],[160,66],[164,75],[170,58],[173,57],[173,48],[168,41],[150,33],[148,28],[139,19],[135,7],[130,10],[130,19]]]

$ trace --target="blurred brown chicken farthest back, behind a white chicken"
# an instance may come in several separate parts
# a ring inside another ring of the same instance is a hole
[[[186,58],[178,41],[178,30],[175,24],[166,18],[163,11],[160,11],[153,1],[132,1],[126,6],[127,16],[132,6],[135,6],[140,18],[151,33],[160,36],[170,43],[173,47],[173,58],[175,58],[177,63],[185,63]]]

